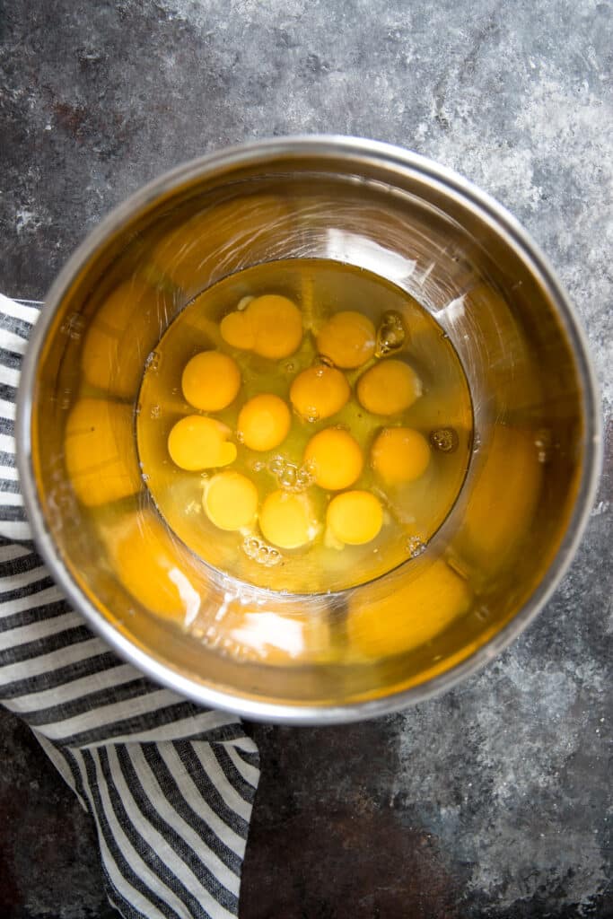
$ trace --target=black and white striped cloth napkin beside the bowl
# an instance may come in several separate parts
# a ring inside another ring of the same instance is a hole
[[[121,915],[235,916],[255,743],[233,716],[199,709],[116,657],[70,609],[32,542],[14,419],[39,312],[0,294],[0,699],[94,818]]]

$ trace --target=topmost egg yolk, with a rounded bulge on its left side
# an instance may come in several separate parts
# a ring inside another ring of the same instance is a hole
[[[228,345],[278,360],[301,345],[301,311],[287,297],[265,294],[224,316],[220,330]]]

